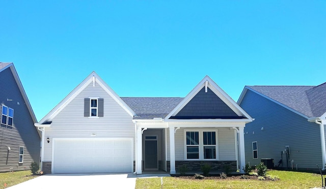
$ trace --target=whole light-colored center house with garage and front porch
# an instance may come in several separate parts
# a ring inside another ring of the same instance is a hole
[[[185,98],[120,98],[95,72],[35,126],[44,173],[116,173],[186,165],[242,171],[253,119],[208,76]]]

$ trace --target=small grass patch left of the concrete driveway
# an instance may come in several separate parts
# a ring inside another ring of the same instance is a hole
[[[21,182],[30,180],[35,177],[38,176],[32,175],[30,170],[0,173],[0,189],[19,184]],[[5,187],[5,183],[7,184],[6,187]]]

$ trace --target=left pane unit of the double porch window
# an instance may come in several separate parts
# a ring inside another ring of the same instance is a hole
[[[199,132],[186,132],[187,159],[199,159]]]

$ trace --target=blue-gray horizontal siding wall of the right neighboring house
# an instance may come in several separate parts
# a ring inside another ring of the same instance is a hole
[[[290,160],[296,169],[316,169],[321,165],[319,125],[259,94],[248,90],[240,107],[255,120],[244,128],[246,163],[258,165],[261,159],[281,160],[281,151],[290,147]],[[262,129],[263,128],[263,129]],[[252,142],[257,141],[258,159],[253,159]],[[286,167],[283,154],[283,167]],[[282,167],[282,164],[280,165]]]

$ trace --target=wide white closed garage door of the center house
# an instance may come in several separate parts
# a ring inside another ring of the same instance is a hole
[[[133,171],[131,138],[53,139],[52,173]]]

